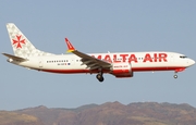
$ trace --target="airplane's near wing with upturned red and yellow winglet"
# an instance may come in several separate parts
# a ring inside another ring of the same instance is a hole
[[[69,41],[68,38],[65,38],[65,42],[68,45],[68,52],[72,52],[76,54],[77,57],[82,58],[83,65],[87,65],[87,68],[89,70],[97,70],[97,68],[102,68],[102,70],[110,70],[112,66],[111,63],[106,62],[103,60],[96,59],[94,57],[90,57],[86,53],[79,52],[75,50],[75,48],[72,46],[72,43]]]

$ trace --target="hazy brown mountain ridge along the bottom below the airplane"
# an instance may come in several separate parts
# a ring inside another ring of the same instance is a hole
[[[196,125],[196,109],[188,104],[107,102],[76,109],[29,108],[0,112],[0,125]]]

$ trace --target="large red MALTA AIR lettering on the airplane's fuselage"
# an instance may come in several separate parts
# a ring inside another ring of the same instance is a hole
[[[136,57],[136,54],[98,54],[98,55],[91,55],[94,58],[97,58],[99,60],[105,60],[107,62],[114,62],[114,63],[121,63],[121,62],[135,62],[137,63],[138,60],[142,60],[144,63],[146,62],[168,62],[167,53],[146,53],[144,57]],[[120,60],[119,60],[120,59]]]

